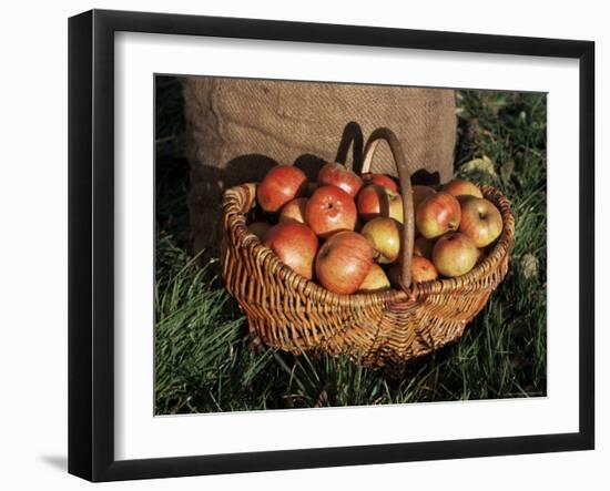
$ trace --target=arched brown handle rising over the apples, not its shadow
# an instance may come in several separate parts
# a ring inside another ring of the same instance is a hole
[[[375,130],[364,149],[364,160],[362,173],[369,172],[370,162],[375,155],[378,143],[385,140],[389,145],[394,163],[398,170],[398,181],[400,183],[400,193],[403,195],[403,236],[400,237],[400,286],[407,294],[410,293],[411,286],[411,263],[413,263],[413,244],[415,239],[415,219],[413,208],[413,187],[410,184],[410,174],[403,152],[403,145],[394,132],[387,127],[378,127]]]

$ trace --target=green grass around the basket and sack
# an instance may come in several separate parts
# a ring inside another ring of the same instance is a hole
[[[181,89],[175,79],[160,79],[156,90],[156,413],[546,395],[543,94],[458,93],[456,174],[510,197],[517,216],[511,268],[459,342],[389,371],[250,349],[217,258],[189,254]]]

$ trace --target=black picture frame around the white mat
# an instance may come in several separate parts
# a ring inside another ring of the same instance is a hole
[[[579,60],[579,431],[145,460],[114,458],[114,33],[190,34]],[[92,10],[69,20],[69,472],[91,481],[594,448],[594,43]]]

